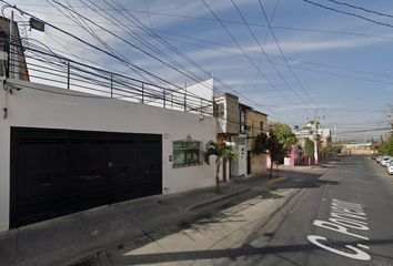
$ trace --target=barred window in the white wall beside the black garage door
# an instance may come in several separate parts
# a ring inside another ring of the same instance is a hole
[[[173,167],[202,164],[200,146],[201,142],[173,142]]]

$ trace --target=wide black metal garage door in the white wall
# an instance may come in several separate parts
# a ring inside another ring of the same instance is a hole
[[[162,193],[162,136],[11,127],[10,228]]]

